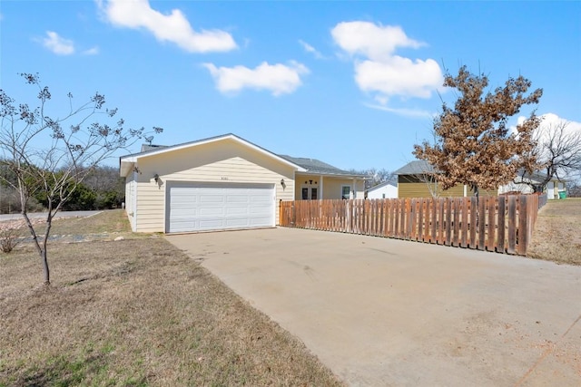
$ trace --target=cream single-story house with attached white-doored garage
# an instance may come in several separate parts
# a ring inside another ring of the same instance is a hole
[[[280,200],[363,198],[365,186],[363,175],[278,155],[234,134],[145,146],[119,161],[137,232],[274,227]]]

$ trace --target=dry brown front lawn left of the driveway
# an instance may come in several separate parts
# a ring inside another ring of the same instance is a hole
[[[129,238],[114,212],[55,222],[127,238],[52,243],[48,288],[29,244],[0,254],[0,386],[340,385],[162,237]]]

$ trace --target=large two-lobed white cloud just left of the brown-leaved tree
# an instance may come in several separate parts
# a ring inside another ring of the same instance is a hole
[[[343,22],[331,30],[331,35],[353,58],[359,89],[370,92],[382,105],[392,97],[430,98],[433,92],[443,90],[444,76],[436,61],[395,54],[398,48],[425,45],[409,38],[399,26]]]

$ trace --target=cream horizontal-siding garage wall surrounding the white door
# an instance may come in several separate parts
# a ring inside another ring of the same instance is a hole
[[[275,200],[294,198],[294,169],[226,139],[138,160],[136,231],[164,232],[167,181],[274,184]],[[153,176],[159,175],[159,184]],[[284,179],[286,188],[282,188]],[[279,223],[278,206],[275,223]]]

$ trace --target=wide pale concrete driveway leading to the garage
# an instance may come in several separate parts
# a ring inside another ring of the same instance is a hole
[[[581,385],[580,266],[292,228],[167,239],[350,385]]]

